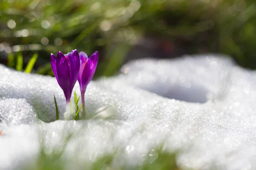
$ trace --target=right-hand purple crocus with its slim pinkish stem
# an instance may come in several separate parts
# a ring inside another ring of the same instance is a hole
[[[84,52],[79,53],[80,57],[80,70],[78,75],[78,82],[80,85],[81,99],[82,99],[82,108],[83,115],[82,118],[85,118],[85,105],[84,105],[84,93],[86,91],[87,85],[93,79],[97,64],[98,64],[98,51],[94,52],[88,59],[87,54]]]

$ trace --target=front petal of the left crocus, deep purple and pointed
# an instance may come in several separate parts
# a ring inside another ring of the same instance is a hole
[[[58,83],[64,92],[67,102],[69,102],[72,93],[72,91],[70,92],[70,68],[67,58],[61,53],[61,51],[58,52],[55,63]]]

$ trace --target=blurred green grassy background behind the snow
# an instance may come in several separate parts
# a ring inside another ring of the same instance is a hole
[[[0,0],[0,62],[17,70],[38,54],[32,72],[53,75],[50,53],[73,49],[99,51],[96,77],[182,54],[228,54],[255,69],[255,48],[255,0]]]

